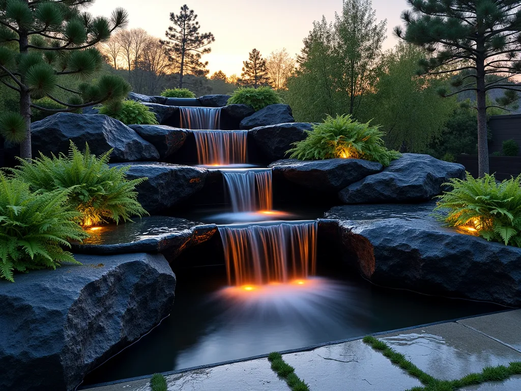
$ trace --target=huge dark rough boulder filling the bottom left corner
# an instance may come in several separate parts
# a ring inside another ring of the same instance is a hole
[[[170,313],[163,255],[77,255],[83,266],[0,280],[0,388],[71,391]]]

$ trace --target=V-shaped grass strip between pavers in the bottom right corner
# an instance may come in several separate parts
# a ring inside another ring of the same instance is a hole
[[[400,366],[411,376],[418,378],[424,387],[413,387],[408,391],[454,391],[459,388],[485,382],[502,382],[512,375],[521,375],[521,362],[514,361],[508,366],[486,366],[481,373],[471,373],[456,380],[439,380],[425,373],[407,360],[402,353],[390,348],[389,345],[373,336],[364,337],[363,341],[373,349],[381,351],[393,364]]]

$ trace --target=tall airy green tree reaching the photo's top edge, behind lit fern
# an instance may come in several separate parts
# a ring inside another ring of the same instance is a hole
[[[376,20],[371,2],[364,0],[344,0],[334,23],[325,18],[314,22],[297,57],[295,76],[288,80],[287,100],[297,118],[358,116],[364,97],[377,81],[386,25],[386,20]]]

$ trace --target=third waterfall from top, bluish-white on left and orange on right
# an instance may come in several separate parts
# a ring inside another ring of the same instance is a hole
[[[271,169],[222,170],[233,212],[272,209]]]

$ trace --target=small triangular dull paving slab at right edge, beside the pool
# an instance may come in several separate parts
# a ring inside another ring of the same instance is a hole
[[[457,323],[472,327],[521,352],[521,310],[473,317]]]

